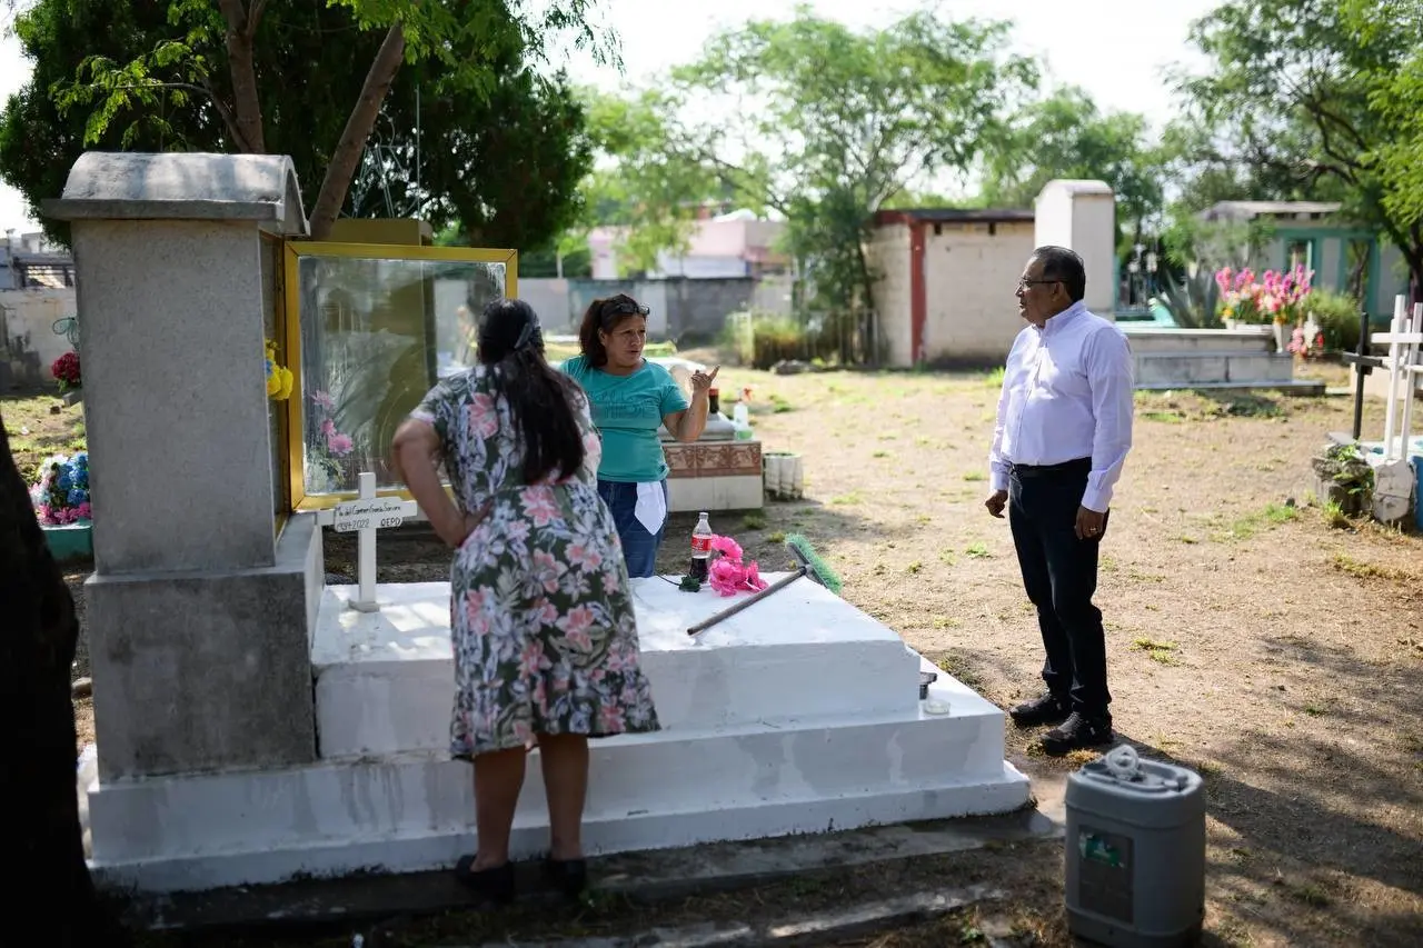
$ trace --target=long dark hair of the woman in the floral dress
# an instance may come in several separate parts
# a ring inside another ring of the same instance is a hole
[[[573,417],[572,379],[544,359],[544,333],[534,307],[521,299],[497,299],[480,320],[480,362],[492,367],[509,403],[509,420],[524,436],[524,481],[549,471],[564,477],[583,465],[583,434]]]

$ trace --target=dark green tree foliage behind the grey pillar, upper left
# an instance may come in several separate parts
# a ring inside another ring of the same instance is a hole
[[[314,233],[343,205],[394,206],[458,216],[481,241],[548,242],[576,212],[591,144],[566,81],[531,65],[545,27],[596,43],[589,9],[37,0],[14,24],[34,75],[0,115],[0,175],[37,206],[85,148],[289,154]]]

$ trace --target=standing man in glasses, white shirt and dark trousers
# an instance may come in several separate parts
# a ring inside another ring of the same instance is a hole
[[[1033,252],[1017,283],[1027,326],[1013,340],[989,450],[988,512],[1007,507],[1013,547],[1047,656],[1047,693],[1013,707],[1019,727],[1059,725],[1043,750],[1113,742],[1097,549],[1111,491],[1131,448],[1131,350],[1117,326],[1083,306],[1081,258]]]

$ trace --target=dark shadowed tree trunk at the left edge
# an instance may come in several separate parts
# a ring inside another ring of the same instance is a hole
[[[128,945],[94,891],[80,830],[70,666],[78,616],[44,541],[0,420],[0,799],[14,818],[6,831],[16,870],[3,890],[0,939],[14,944]],[[43,910],[54,905],[54,910]],[[24,920],[43,925],[33,938]],[[41,921],[43,918],[43,921]]]

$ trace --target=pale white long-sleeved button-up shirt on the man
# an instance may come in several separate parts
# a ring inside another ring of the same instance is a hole
[[[1131,347],[1114,323],[1073,303],[1013,340],[989,448],[990,483],[1013,464],[1091,458],[1081,505],[1103,512],[1131,450]]]

